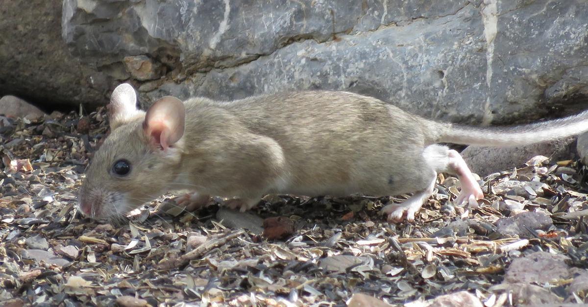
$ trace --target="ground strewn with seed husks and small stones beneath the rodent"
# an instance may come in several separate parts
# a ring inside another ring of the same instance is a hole
[[[243,214],[216,204],[182,212],[165,195],[111,225],[76,211],[106,133],[103,109],[0,117],[0,305],[588,302],[576,161],[535,157],[483,178],[485,199],[459,207],[456,178],[439,175],[412,223],[379,214],[406,197],[268,195]]]

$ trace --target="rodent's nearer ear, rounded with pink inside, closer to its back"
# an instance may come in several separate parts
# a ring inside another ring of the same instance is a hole
[[[143,130],[149,142],[163,150],[182,138],[186,108],[182,100],[165,96],[149,107],[143,122]]]

